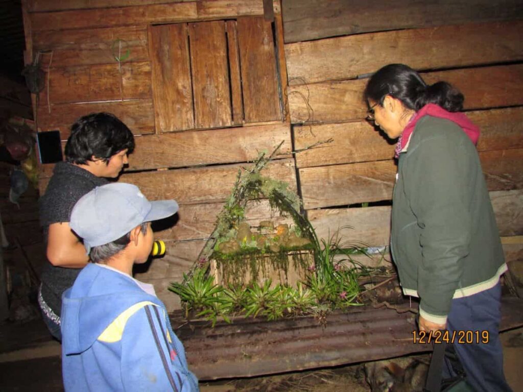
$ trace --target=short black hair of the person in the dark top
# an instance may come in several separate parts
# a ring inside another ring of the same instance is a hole
[[[91,113],[71,125],[65,144],[67,162],[85,164],[93,155],[108,162],[111,156],[134,149],[134,136],[126,124],[111,113]]]

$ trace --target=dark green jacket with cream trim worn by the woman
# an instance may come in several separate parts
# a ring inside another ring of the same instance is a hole
[[[507,269],[476,148],[450,120],[420,118],[400,154],[391,251],[404,294],[438,324],[452,298],[490,289]]]

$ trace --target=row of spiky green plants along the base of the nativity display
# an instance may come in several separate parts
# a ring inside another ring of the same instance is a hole
[[[334,309],[361,305],[357,301],[358,278],[367,271],[359,267],[351,255],[363,252],[363,248],[344,247],[337,237],[322,239],[321,244],[306,280],[298,282],[296,287],[272,286],[270,280],[263,284],[223,287],[207,275],[207,268],[198,268],[184,284],[172,283],[169,290],[180,296],[186,316],[191,313],[204,317],[213,326],[218,317],[226,322],[231,322],[234,316],[267,320],[303,315],[323,317]]]

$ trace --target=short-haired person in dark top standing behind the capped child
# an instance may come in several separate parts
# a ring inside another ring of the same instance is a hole
[[[40,225],[47,238],[49,263],[41,274],[38,303],[51,335],[61,340],[62,293],[71,287],[89,257],[71,231],[69,219],[84,194],[116,178],[134,149],[129,128],[110,113],[92,113],[71,126],[65,145],[66,162],[56,164],[40,198]]]

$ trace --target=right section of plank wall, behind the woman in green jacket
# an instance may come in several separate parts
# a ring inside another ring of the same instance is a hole
[[[295,158],[319,236],[351,226],[342,240],[389,243],[394,144],[365,121],[362,93],[369,74],[404,63],[463,92],[481,126],[477,149],[500,233],[517,243],[506,245],[507,259],[523,262],[523,4],[286,0],[282,13],[294,147],[334,140]]]

